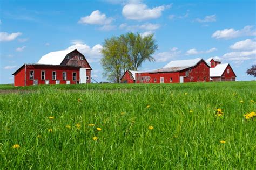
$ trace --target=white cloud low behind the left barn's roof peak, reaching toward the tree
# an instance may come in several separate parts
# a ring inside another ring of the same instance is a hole
[[[86,44],[74,44],[69,46],[67,49],[78,49],[79,52],[83,53],[86,60],[90,62],[99,62],[102,58],[101,50],[102,45],[96,44],[92,48]]]

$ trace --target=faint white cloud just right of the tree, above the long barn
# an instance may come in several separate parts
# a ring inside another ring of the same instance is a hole
[[[177,47],[173,47],[170,51],[157,53],[154,55],[154,59],[156,59],[156,62],[166,62],[176,58],[180,54],[181,51]]]

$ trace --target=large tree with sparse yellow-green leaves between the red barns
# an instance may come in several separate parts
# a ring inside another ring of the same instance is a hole
[[[100,61],[104,76],[118,83],[126,70],[138,70],[144,61],[154,61],[153,54],[158,49],[154,35],[140,36],[132,32],[119,37],[105,39]]]

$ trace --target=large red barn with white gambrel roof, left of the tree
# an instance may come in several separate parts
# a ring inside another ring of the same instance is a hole
[[[48,53],[35,64],[24,64],[14,75],[14,86],[91,82],[91,66],[77,49]]]

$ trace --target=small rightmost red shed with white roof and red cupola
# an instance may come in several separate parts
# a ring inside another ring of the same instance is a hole
[[[235,77],[237,76],[229,63],[221,64],[218,58],[210,58],[207,62],[211,66],[211,81],[235,81]]]

